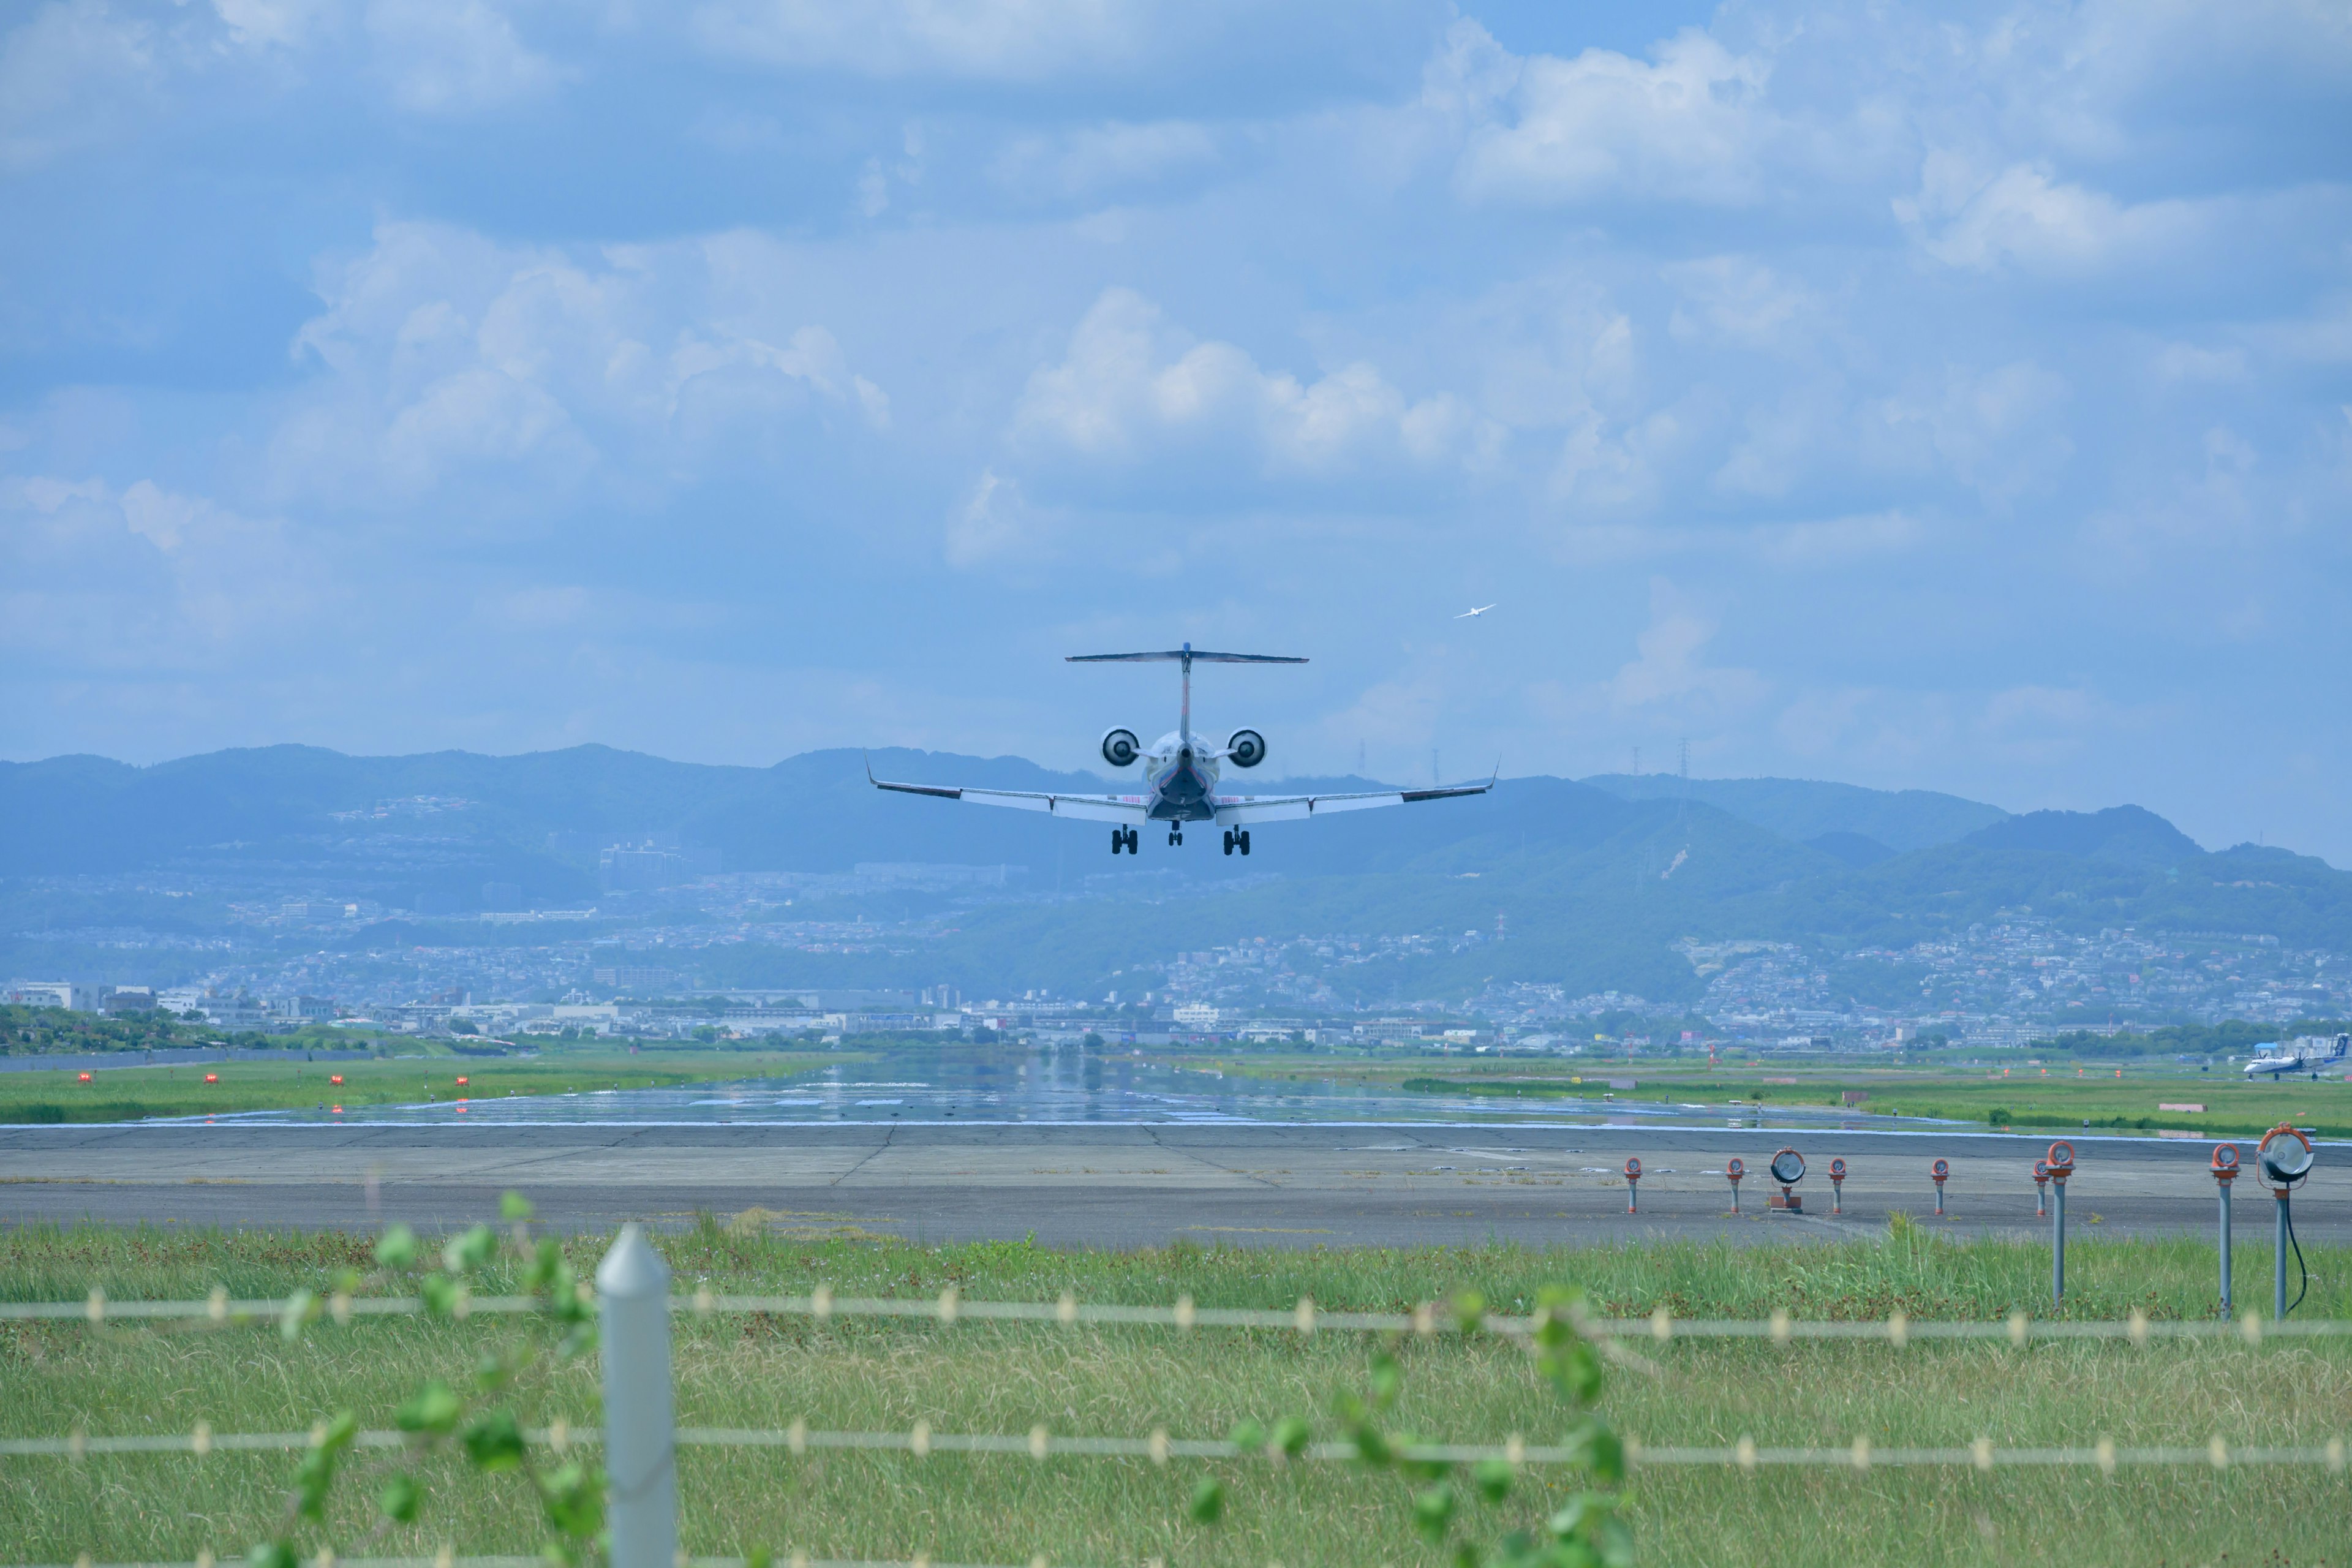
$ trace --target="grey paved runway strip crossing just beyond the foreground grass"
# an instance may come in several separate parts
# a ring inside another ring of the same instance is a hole
[[[1764,1166],[1783,1145],[1811,1164],[1804,1213],[1766,1211]],[[520,1190],[569,1229],[710,1213],[804,1237],[1051,1246],[1804,1244],[1879,1234],[1893,1211],[1950,1234],[2042,1234],[2032,1161],[2046,1147],[1969,1131],[1494,1124],[45,1126],[0,1128],[0,1220],[454,1227],[496,1218],[499,1194]],[[2213,1232],[2211,1145],[2084,1135],[2074,1147],[2072,1237]],[[2267,1241],[2272,1201],[2251,1173],[2253,1143],[2239,1147],[2237,1229]],[[1637,1213],[1628,1154],[1644,1166]],[[1729,1157],[1748,1166],[1738,1215]],[[1832,1157],[1849,1166],[1842,1215]],[[2321,1147],[2296,1197],[2303,1241],[2352,1241],[2347,1157]]]

